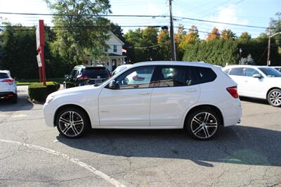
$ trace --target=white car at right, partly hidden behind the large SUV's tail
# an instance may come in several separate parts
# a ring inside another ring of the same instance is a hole
[[[281,73],[273,67],[229,65],[223,71],[238,84],[240,96],[266,99],[270,105],[281,106]]]

